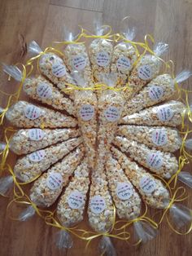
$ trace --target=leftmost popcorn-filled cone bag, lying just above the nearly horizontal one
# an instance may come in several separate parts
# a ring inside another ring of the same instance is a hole
[[[7,110],[6,117],[12,125],[20,128],[63,128],[77,125],[73,117],[22,100]]]

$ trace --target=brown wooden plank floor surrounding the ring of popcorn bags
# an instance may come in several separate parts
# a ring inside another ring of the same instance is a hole
[[[168,58],[175,61],[176,71],[192,70],[192,0],[0,0],[0,60],[7,64],[24,61],[26,43],[36,40],[43,48],[62,40],[64,25],[72,31],[77,24],[92,29],[93,20],[99,18],[118,31],[125,15],[132,15],[135,20],[137,40],[151,33],[155,40],[168,42]],[[190,82],[185,83],[186,88]],[[7,82],[7,77],[0,73],[0,86],[8,92],[16,84]],[[1,101],[3,106],[4,97]],[[15,157],[11,156],[10,161],[15,161]],[[85,242],[77,239],[72,249],[59,252],[55,249],[55,228],[47,227],[37,216],[28,223],[11,221],[7,218],[7,203],[7,198],[0,197],[1,256],[98,255],[98,241],[84,252]],[[185,205],[192,208],[192,200],[185,201]],[[114,244],[121,256],[188,256],[191,238],[171,232],[164,222],[159,236],[146,245],[132,247],[122,241]]]

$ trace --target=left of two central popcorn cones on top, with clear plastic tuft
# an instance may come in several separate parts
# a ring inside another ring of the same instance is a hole
[[[82,73],[75,71],[73,77],[78,86],[86,86]],[[76,90],[74,98],[76,117],[84,140],[89,167],[94,168],[96,161],[98,99],[92,90]]]

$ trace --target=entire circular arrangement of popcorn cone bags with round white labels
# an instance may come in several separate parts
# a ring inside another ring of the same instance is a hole
[[[139,221],[142,201],[169,210],[175,221],[191,222],[191,211],[172,201],[169,187],[178,174],[190,183],[189,176],[179,173],[182,162],[174,155],[184,145],[191,148],[177,127],[184,126],[190,109],[170,98],[191,73],[165,73],[168,63],[159,56],[168,45],[159,42],[139,54],[130,37],[112,40],[100,33],[88,49],[74,41],[63,51],[41,51],[31,42],[33,57],[25,67],[37,61],[36,76],[4,64],[4,71],[33,99],[2,109],[18,128],[8,144],[1,144],[2,152],[9,148],[20,157],[13,176],[1,179],[0,192],[13,182],[32,184],[32,205],[20,220],[35,214],[34,205],[49,209],[57,201],[54,219],[70,231],[87,214],[92,231],[106,234],[104,247],[111,245],[107,234],[116,226],[116,215],[134,224],[139,239],[155,236],[157,223],[149,235]],[[65,245],[59,246],[70,247],[66,229],[61,235]]]

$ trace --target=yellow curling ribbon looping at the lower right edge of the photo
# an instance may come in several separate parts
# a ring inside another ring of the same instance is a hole
[[[186,232],[182,233],[182,232],[177,231],[177,229],[175,227],[172,227],[172,223],[170,222],[170,220],[168,218],[168,210],[172,207],[172,205],[176,202],[185,201],[185,199],[187,199],[187,198],[188,198],[188,196],[185,196],[185,188],[183,188],[183,187],[177,188],[177,190],[174,192],[174,194],[172,196],[172,199],[170,200],[168,206],[165,208],[164,214],[160,218],[158,225],[160,223],[162,223],[164,217],[166,216],[168,226],[172,229],[173,232],[176,232],[178,235],[187,235],[187,234],[189,234],[192,230],[192,222],[190,223],[189,229]],[[191,212],[191,216],[192,216],[192,212]]]

